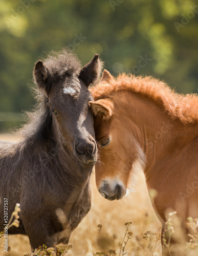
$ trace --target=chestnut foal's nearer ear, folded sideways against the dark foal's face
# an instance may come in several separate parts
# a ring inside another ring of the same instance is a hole
[[[112,116],[114,104],[108,99],[99,99],[89,102],[95,116],[101,116],[103,119],[108,119]]]

